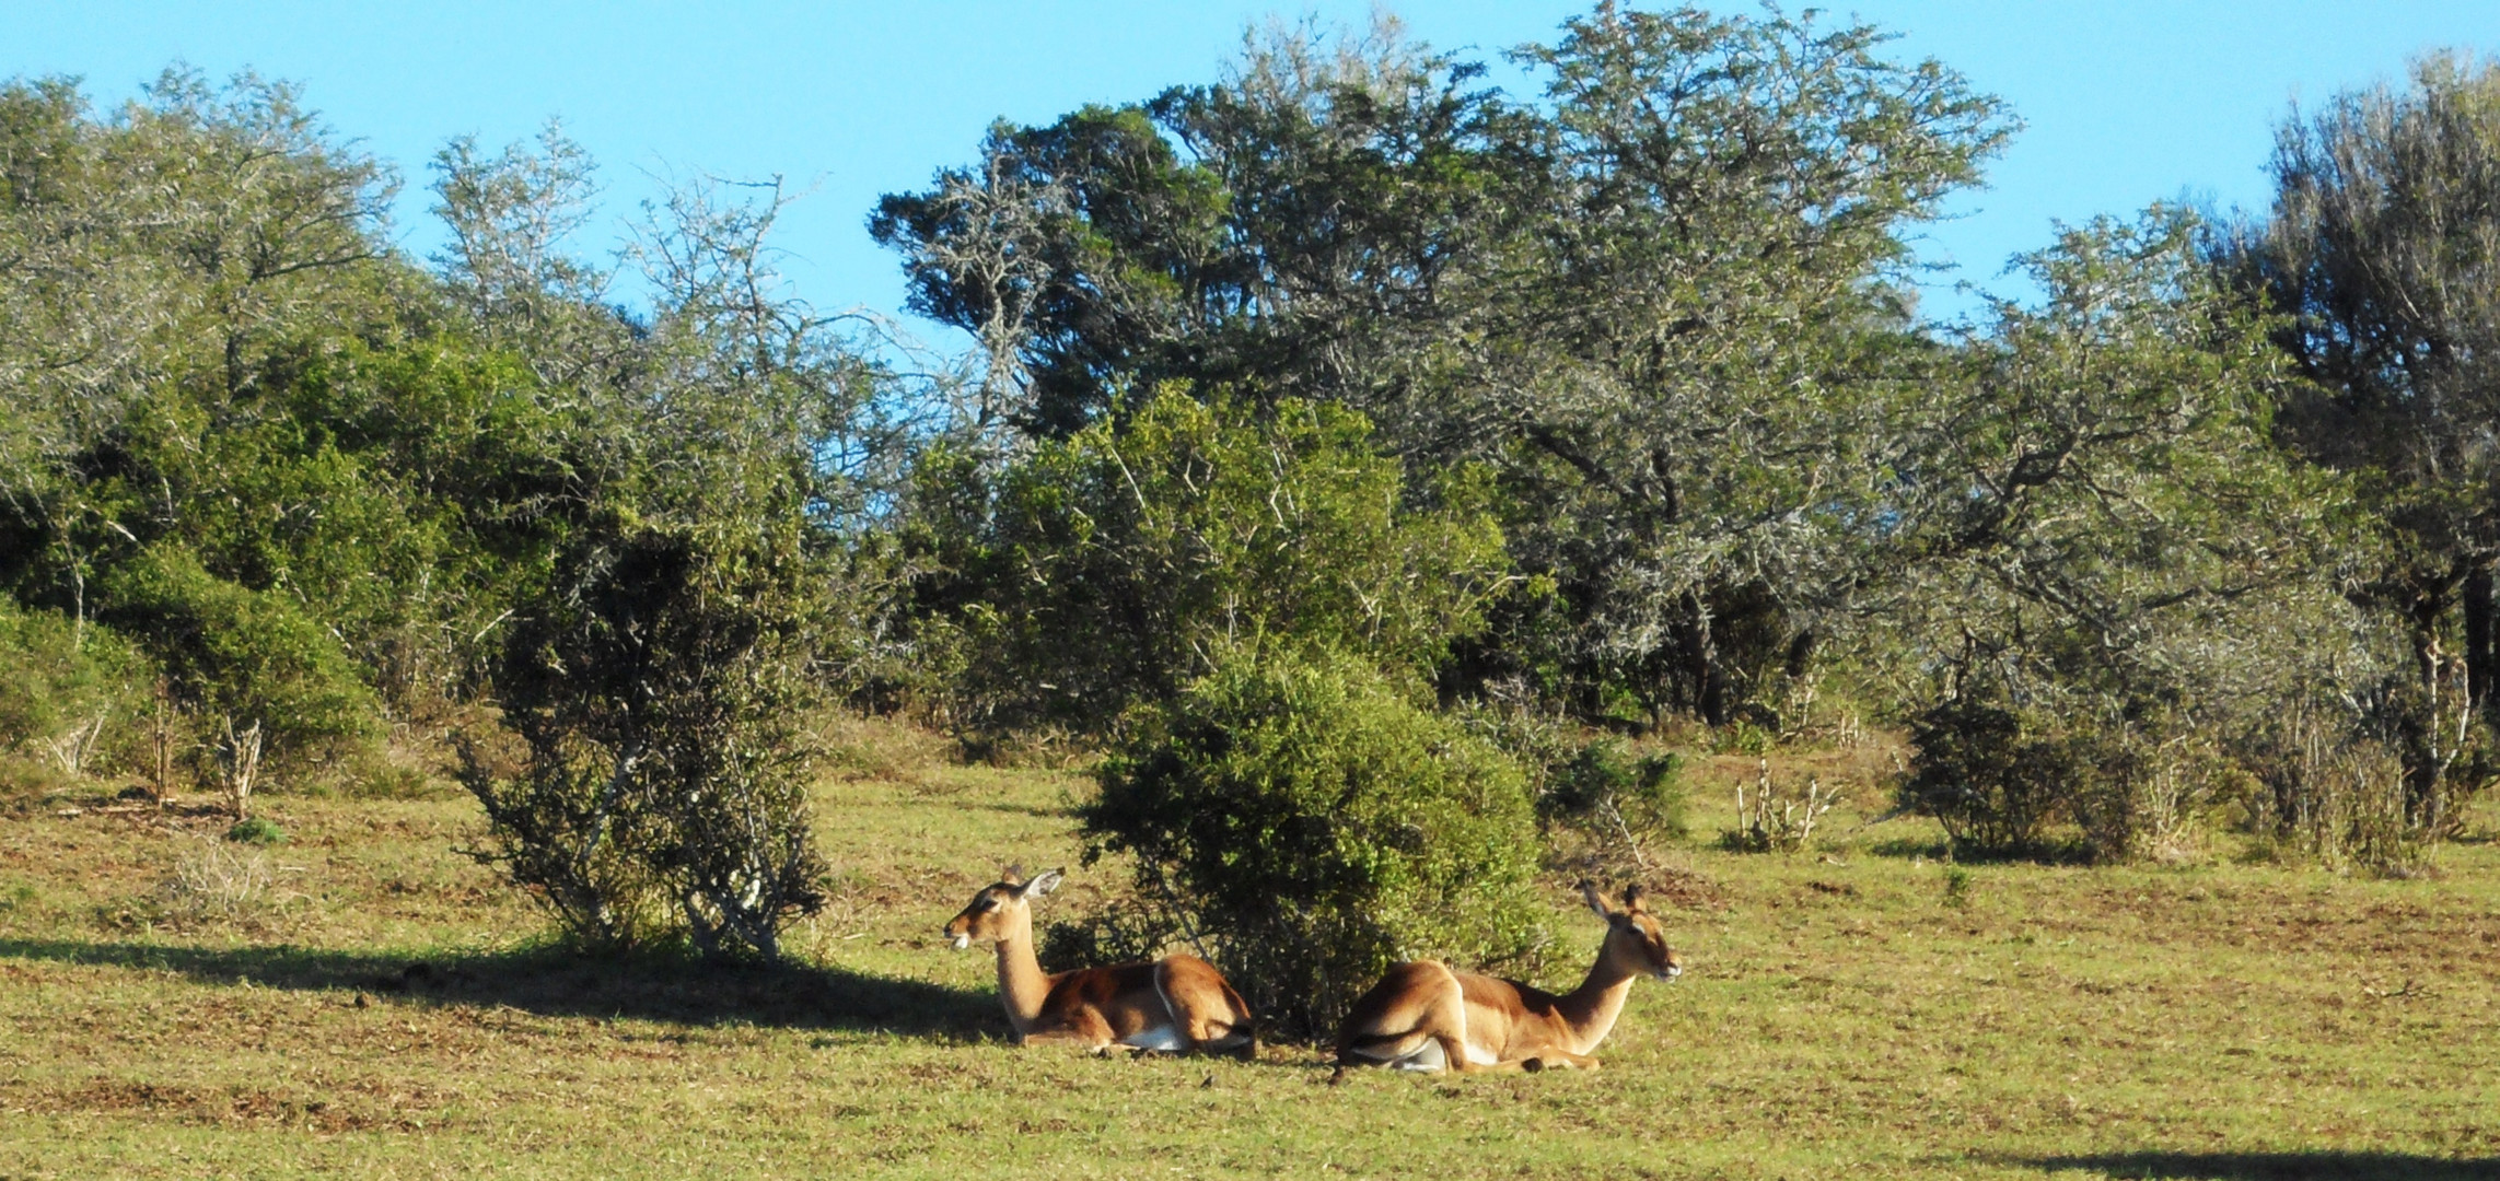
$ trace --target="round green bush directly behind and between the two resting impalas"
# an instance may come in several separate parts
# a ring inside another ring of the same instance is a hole
[[[1370,664],[1218,654],[1135,719],[1082,809],[1138,896],[1285,1034],[1318,1034],[1400,959],[1530,969],[1538,819],[1518,762]]]

